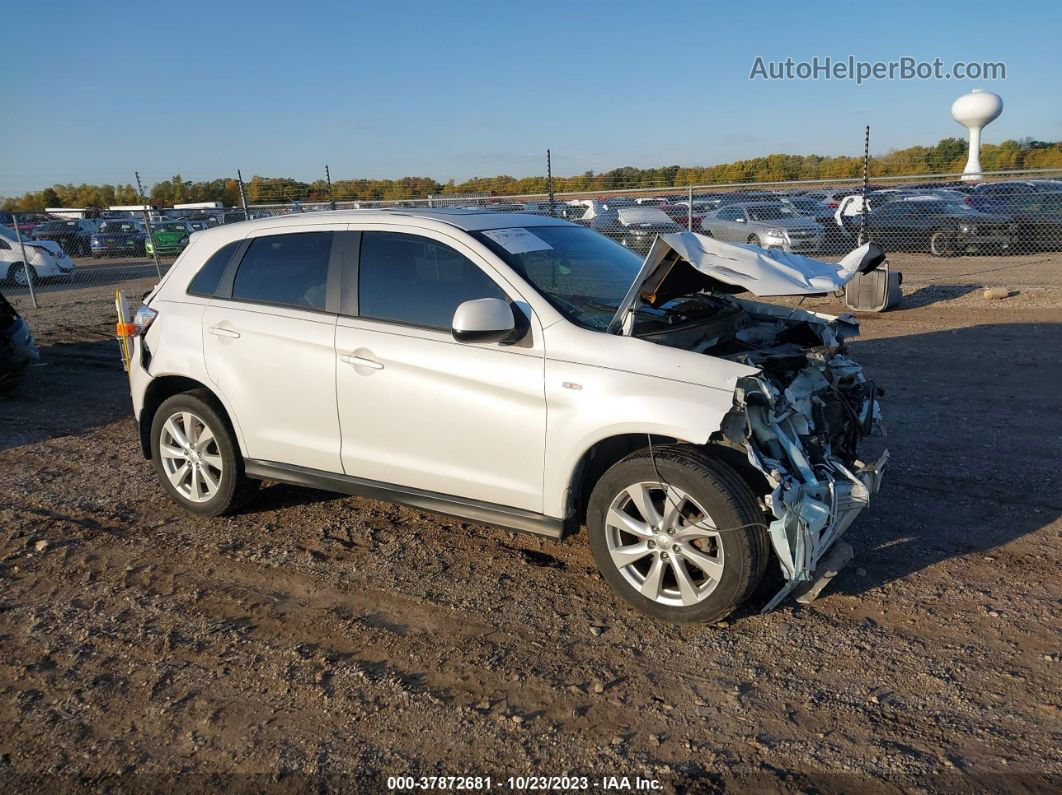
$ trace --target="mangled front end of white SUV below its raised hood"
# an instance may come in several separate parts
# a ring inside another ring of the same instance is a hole
[[[768,534],[787,582],[766,612],[794,591],[811,601],[851,558],[846,545],[827,553],[877,491],[889,454],[872,464],[858,456],[859,442],[884,431],[880,391],[845,351],[855,322],[737,303],[747,325],[732,346],[748,347],[712,352],[759,369],[738,381],[722,433],[770,487]]]

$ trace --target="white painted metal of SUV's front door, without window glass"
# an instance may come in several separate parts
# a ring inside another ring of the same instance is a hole
[[[531,330],[517,345],[459,343],[448,331],[341,316],[338,357],[382,365],[339,361],[344,472],[542,513],[545,349],[538,315],[525,301],[536,294],[519,289],[519,278],[490,250],[453,229],[349,228],[401,230],[450,246],[525,309]]]

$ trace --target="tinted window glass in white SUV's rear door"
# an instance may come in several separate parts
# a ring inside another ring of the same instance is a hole
[[[233,297],[301,309],[325,308],[332,232],[254,238],[233,281]]]

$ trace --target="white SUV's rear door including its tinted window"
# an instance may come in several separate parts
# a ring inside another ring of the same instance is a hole
[[[240,427],[247,457],[342,471],[336,284],[344,228],[277,227],[249,236],[203,314],[206,369]]]

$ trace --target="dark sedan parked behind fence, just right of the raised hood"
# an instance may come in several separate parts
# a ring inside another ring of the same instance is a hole
[[[964,252],[1007,252],[1015,228],[1008,215],[978,212],[943,198],[889,202],[867,219],[871,239],[888,250],[929,252],[952,257]]]

